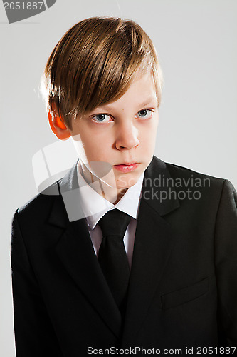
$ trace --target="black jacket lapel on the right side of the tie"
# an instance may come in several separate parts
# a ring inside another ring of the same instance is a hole
[[[154,186],[157,178],[161,178],[159,187]],[[153,157],[142,186],[122,346],[131,346],[142,325],[176,237],[162,217],[179,208],[179,201],[174,196],[169,197],[170,181],[167,178],[170,178],[167,166]],[[164,201],[159,199],[161,191],[163,197],[167,193]]]

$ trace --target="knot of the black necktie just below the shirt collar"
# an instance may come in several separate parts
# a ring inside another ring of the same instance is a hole
[[[117,208],[108,211],[100,218],[98,225],[103,236],[124,236],[131,217]]]

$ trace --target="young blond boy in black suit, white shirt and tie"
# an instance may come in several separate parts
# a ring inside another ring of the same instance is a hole
[[[14,216],[17,356],[235,354],[236,191],[153,156],[162,73],[149,36],[80,21],[45,85],[51,129],[79,161]]]

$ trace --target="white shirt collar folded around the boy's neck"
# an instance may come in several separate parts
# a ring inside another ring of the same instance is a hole
[[[125,195],[122,196],[120,201],[116,204],[107,201],[105,198],[100,196],[97,191],[95,191],[95,188],[100,188],[99,181],[88,185],[80,173],[80,161],[78,163],[77,172],[81,206],[91,229],[95,228],[98,221],[100,221],[100,218],[102,218],[107,211],[110,211],[110,209],[117,208],[137,219],[144,172],[139,177],[137,183],[128,188]]]

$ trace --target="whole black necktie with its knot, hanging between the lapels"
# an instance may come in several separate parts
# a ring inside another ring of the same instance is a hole
[[[125,309],[130,279],[130,267],[123,243],[130,219],[131,217],[127,213],[115,208],[108,211],[98,222],[102,230],[98,261],[121,312],[124,312]]]

